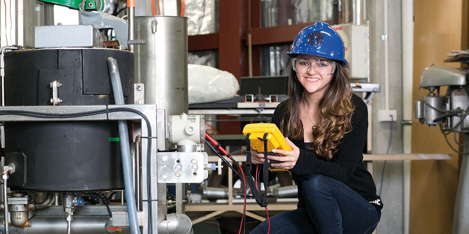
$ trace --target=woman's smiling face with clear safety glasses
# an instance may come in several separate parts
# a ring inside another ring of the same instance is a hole
[[[311,55],[298,55],[292,62],[305,94],[321,98],[331,83],[335,62]]]

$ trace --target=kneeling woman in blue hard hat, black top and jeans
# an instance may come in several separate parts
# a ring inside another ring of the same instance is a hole
[[[296,210],[270,218],[270,234],[371,234],[381,218],[383,203],[363,164],[367,108],[352,93],[344,52],[340,35],[316,22],[298,33],[287,53],[289,98],[272,122],[293,150],[274,150],[283,156],[267,158],[278,161],[272,167],[290,170],[299,201]],[[264,155],[253,154],[251,161],[261,167]],[[268,229],[266,220],[252,234]]]

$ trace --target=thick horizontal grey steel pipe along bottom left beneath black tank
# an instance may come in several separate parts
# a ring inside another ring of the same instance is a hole
[[[73,215],[71,234],[109,234],[107,221],[109,221],[107,215]],[[10,227],[10,233],[64,234],[67,232],[65,215],[34,215],[29,219],[29,222],[30,227]],[[122,232],[119,234],[129,234],[128,227],[122,228]]]

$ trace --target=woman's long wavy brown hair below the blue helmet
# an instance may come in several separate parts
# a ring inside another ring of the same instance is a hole
[[[303,125],[300,119],[299,105],[303,101],[304,89],[298,81],[293,68],[290,71],[290,88],[287,108],[283,112],[280,129],[284,135],[302,140]],[[319,102],[319,121],[313,129],[312,150],[319,156],[330,160],[341,145],[343,136],[352,131],[350,119],[354,110],[352,103],[350,78],[344,67],[337,64],[329,87]]]

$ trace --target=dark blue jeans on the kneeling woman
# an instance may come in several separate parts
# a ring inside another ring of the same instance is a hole
[[[380,221],[371,203],[336,179],[314,174],[302,186],[306,208],[272,216],[269,234],[371,234]],[[265,220],[251,234],[267,229]]]

